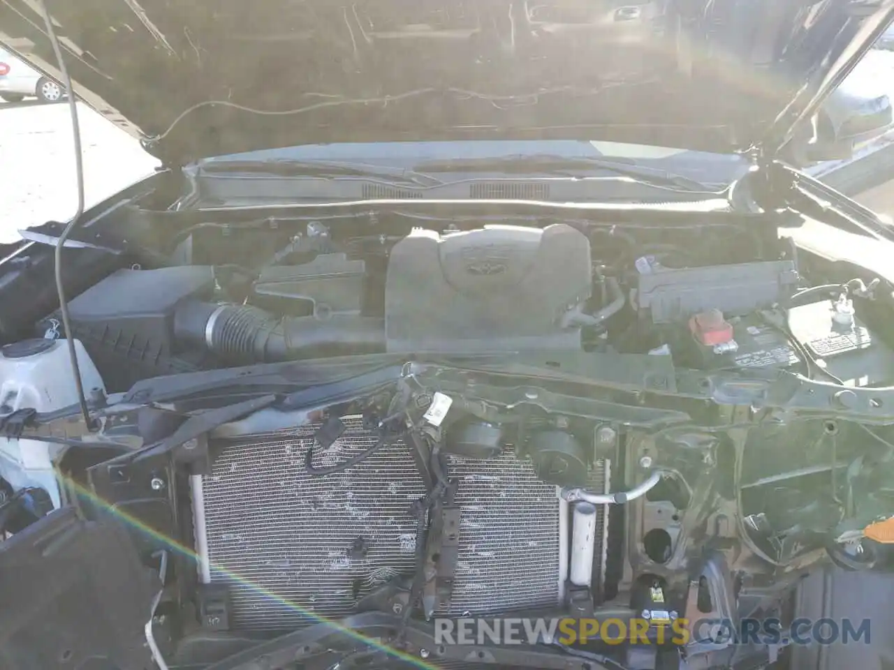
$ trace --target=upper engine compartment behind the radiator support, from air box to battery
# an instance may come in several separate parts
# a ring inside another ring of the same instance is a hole
[[[894,375],[890,346],[851,318],[864,282],[798,295],[811,287],[775,229],[451,222],[342,238],[336,223],[271,225],[199,224],[177,236],[172,265],[123,268],[73,297],[72,334],[106,388],[367,353],[667,354],[696,369],[822,359],[817,373],[859,386]],[[48,314],[34,335],[59,327]]]

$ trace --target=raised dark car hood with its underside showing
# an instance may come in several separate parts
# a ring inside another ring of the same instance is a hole
[[[0,40],[58,76],[34,0]],[[603,139],[775,154],[894,0],[51,3],[76,92],[167,164],[347,141]]]

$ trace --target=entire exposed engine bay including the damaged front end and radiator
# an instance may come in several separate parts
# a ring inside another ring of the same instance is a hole
[[[890,428],[864,422],[894,385],[891,287],[819,274],[774,222],[392,213],[144,237],[165,242],[72,295],[69,333],[47,309],[0,348],[0,483],[44,512],[124,509],[145,564],[170,557],[150,628],[172,667],[372,615],[434,666],[654,670],[677,625],[712,667],[748,645],[697,622],[785,620],[825,558],[882,561],[854,532],[894,473]],[[71,380],[46,381],[66,335],[80,429]],[[510,614],[638,618],[652,643],[526,660],[418,627]],[[309,663],[304,639],[283,649]]]

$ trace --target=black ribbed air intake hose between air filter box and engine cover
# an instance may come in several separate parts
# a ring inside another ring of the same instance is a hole
[[[385,350],[384,319],[368,316],[278,319],[257,307],[190,301],[177,307],[173,330],[179,342],[205,348],[232,364]]]

